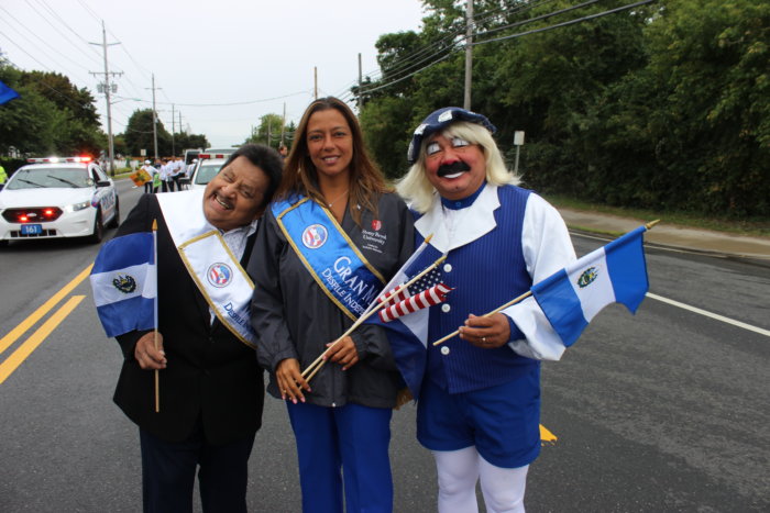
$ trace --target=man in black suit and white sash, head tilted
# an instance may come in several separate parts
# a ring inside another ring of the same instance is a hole
[[[157,220],[157,347],[153,331],[117,337],[114,401],[140,428],[145,512],[190,512],[198,466],[204,511],[246,511],[264,386],[255,334],[239,322],[253,288],[243,269],[280,169],[274,149],[245,145],[202,192],[144,194],[118,230],[148,232]]]

